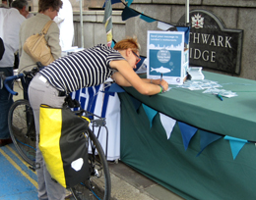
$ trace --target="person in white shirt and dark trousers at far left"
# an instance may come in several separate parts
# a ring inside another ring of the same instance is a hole
[[[5,52],[0,60],[0,72],[13,75],[14,53],[19,48],[19,30],[26,19],[17,9],[0,8],[0,37],[3,39]],[[12,88],[12,85],[9,85]],[[8,128],[8,112],[13,103],[12,95],[5,87],[0,89],[0,146],[12,142]]]

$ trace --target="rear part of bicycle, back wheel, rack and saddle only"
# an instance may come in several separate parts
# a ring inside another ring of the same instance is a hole
[[[86,137],[89,138],[89,144],[91,145],[91,152],[89,153],[89,170],[90,178],[80,182],[70,190],[76,200],[88,200],[88,199],[110,199],[111,196],[111,181],[106,161],[106,155],[94,133],[95,127],[104,127],[107,132],[105,118],[96,116],[94,113],[85,111],[81,108],[77,100],[71,100],[68,96],[69,102],[75,102],[74,107],[80,107],[79,111],[74,111],[79,116],[89,118],[93,130],[89,127],[85,132]],[[72,106],[70,106],[72,107]],[[88,145],[88,146],[90,146]],[[89,148],[90,151],[90,148]],[[103,178],[101,178],[103,176]]]

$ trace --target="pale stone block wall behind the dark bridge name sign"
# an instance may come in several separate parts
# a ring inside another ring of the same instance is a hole
[[[123,0],[124,1],[124,0]],[[186,0],[134,0],[131,8],[161,22],[176,24],[185,14]],[[33,0],[36,2],[36,0]],[[81,45],[79,1],[71,0],[74,12],[75,45]],[[104,0],[84,1],[83,8],[95,8],[83,12],[84,47],[106,43],[101,6]],[[243,45],[240,77],[256,79],[256,0],[190,0],[189,9],[204,9],[220,18],[226,28],[243,29]],[[147,30],[158,29],[157,22],[146,23],[139,17],[125,22],[121,19],[122,4],[113,6],[113,38],[118,41],[125,36],[137,35],[141,54],[147,55]],[[120,10],[118,10],[120,9]]]

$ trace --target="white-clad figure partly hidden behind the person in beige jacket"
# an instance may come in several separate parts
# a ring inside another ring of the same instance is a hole
[[[73,10],[69,0],[62,0],[63,5],[59,10],[54,22],[59,26],[61,50],[68,50],[72,47],[74,38]]]

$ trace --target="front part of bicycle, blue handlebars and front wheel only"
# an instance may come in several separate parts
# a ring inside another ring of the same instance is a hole
[[[19,75],[12,75],[6,77],[1,74],[2,85],[12,95],[18,95],[18,92],[13,91],[8,81],[14,81],[23,77],[32,77],[39,71],[34,67],[32,71],[24,71]],[[8,113],[8,126],[13,143],[21,155],[21,157],[30,165],[30,169],[35,171],[35,128],[33,123],[32,108],[30,102],[26,99],[15,101]]]

